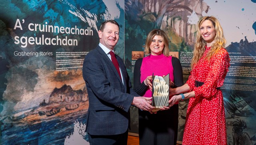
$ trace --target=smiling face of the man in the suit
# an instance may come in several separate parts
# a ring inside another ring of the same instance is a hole
[[[119,39],[119,28],[110,22],[106,23],[103,31],[98,31],[100,43],[110,50],[114,50]]]

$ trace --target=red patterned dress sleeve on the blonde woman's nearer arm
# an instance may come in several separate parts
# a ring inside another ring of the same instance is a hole
[[[211,97],[217,92],[217,87],[224,83],[224,79],[230,66],[228,52],[222,48],[216,55],[210,59],[210,70],[206,81],[200,87],[195,87],[196,96]]]

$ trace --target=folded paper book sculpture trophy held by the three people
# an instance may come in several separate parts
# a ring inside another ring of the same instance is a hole
[[[159,111],[163,106],[169,103],[169,74],[161,77],[154,75],[152,78],[152,106],[156,107],[152,112]]]

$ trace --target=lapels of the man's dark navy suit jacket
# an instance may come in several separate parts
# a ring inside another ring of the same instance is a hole
[[[119,81],[122,83],[122,79],[119,77],[119,74],[114,66],[114,64],[111,62],[111,60],[108,58],[108,56],[106,55],[106,53],[102,50],[102,48],[100,48],[100,46],[98,46],[96,48],[98,50],[98,52],[101,54],[102,58],[107,62],[107,64],[111,67],[111,69],[113,70],[113,72],[116,74],[116,77],[119,79]],[[118,63],[122,63],[119,61],[118,59]],[[122,65],[119,65],[121,70],[122,70],[122,76],[124,78],[124,84],[126,84],[125,82],[125,77],[124,77],[124,70],[123,70],[123,67],[121,67]]]

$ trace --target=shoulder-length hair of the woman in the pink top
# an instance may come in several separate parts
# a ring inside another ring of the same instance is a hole
[[[163,41],[164,41],[163,54],[164,54],[164,56],[169,56],[168,36],[166,35],[166,33],[163,30],[160,30],[160,29],[154,29],[154,30],[152,30],[148,33],[148,36],[146,38],[146,43],[143,46],[144,47],[144,54],[146,54],[146,55],[151,54],[151,50],[150,50],[149,46],[152,43],[152,40],[153,40],[154,36],[156,36],[156,35],[162,36]]]

